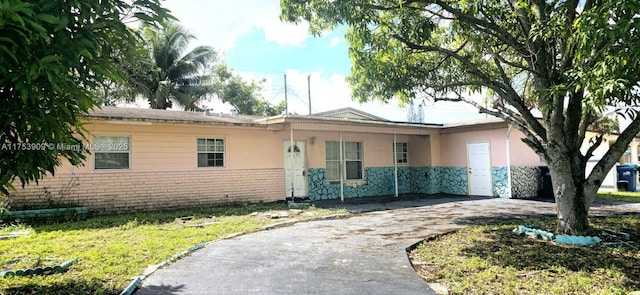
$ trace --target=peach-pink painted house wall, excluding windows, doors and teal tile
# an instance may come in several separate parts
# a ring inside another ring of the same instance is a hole
[[[296,125],[297,124],[297,125]],[[325,143],[362,142],[364,167],[392,167],[393,142],[407,142],[409,163],[401,166],[467,166],[466,144],[489,142],[492,166],[505,166],[507,127],[504,123],[455,128],[300,120],[269,126],[223,126],[158,121],[105,121],[85,124],[88,146],[93,136],[130,137],[130,168],[95,170],[93,155],[84,166],[64,163],[56,177],[13,193],[17,199],[35,200],[44,187],[59,191],[74,177],[72,202],[102,212],[156,210],[225,202],[283,199],[285,171],[283,145],[291,138],[305,142],[306,168],[325,168]],[[225,140],[225,167],[197,167],[197,139]],[[540,158],[512,130],[511,165],[538,166]],[[194,203],[195,202],[195,203]],[[114,204],[117,204],[114,205]]]

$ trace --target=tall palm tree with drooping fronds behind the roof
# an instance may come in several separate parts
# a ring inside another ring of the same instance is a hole
[[[213,91],[205,71],[216,60],[216,52],[209,46],[198,46],[185,53],[195,37],[175,22],[160,29],[145,27],[143,34],[150,53],[146,62],[151,67],[137,92],[154,109],[170,108],[175,101],[185,110],[198,110],[197,102]]]

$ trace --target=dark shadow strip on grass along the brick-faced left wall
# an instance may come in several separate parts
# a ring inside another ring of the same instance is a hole
[[[253,212],[267,212],[269,210],[284,210],[288,206],[284,203],[266,203],[249,205],[209,206],[192,209],[178,209],[171,211],[125,213],[114,215],[92,215],[84,219],[73,220],[26,220],[7,222],[8,224],[21,224],[31,226],[37,232],[71,231],[86,229],[106,229],[125,226],[132,222],[137,224],[168,224],[175,222],[176,218],[193,216],[195,218],[209,218],[211,216],[240,216]]]

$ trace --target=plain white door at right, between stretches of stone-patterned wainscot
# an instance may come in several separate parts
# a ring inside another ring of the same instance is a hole
[[[469,195],[493,196],[488,142],[467,143]]]

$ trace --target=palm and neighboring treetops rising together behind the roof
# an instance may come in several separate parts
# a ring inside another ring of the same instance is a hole
[[[209,46],[187,52],[195,36],[179,23],[143,28],[138,58],[131,64],[118,59],[126,81],[110,81],[100,89],[103,104],[134,101],[143,97],[151,108],[167,109],[176,102],[185,110],[200,110],[203,100],[215,97],[245,115],[282,113],[284,104],[272,105],[260,96],[262,81],[245,81],[218,60]]]

